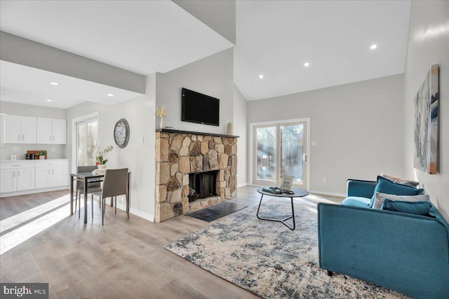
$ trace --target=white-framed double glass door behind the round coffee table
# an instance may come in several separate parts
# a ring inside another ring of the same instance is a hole
[[[253,126],[253,183],[279,186],[284,175],[307,189],[307,122]]]

